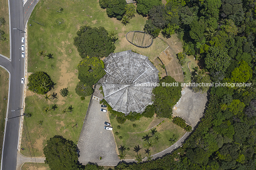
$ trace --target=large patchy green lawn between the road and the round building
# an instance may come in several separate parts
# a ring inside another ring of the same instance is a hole
[[[59,7],[64,9],[62,13],[56,12]],[[44,26],[36,22],[42,23]],[[48,94],[57,93],[58,99],[48,101],[43,95],[33,94],[27,91],[26,113],[32,113],[32,117],[25,118],[21,148],[22,154],[27,156],[43,156],[43,147],[46,141],[55,134],[63,135],[64,138],[77,142],[82,120],[85,117],[89,97],[84,101],[75,94],[75,86],[78,82],[77,64],[81,60],[74,43],[76,31],[83,25],[91,27],[103,26],[107,31],[115,31],[116,50],[120,52],[133,49],[153,60],[158,57],[167,44],[159,38],[154,39],[149,48],[139,48],[130,44],[125,35],[129,31],[143,30],[147,18],[136,14],[127,26],[121,24],[115,18],[109,18],[106,9],[101,9],[95,0],[40,0],[32,12],[28,22],[28,72],[45,71],[51,76],[55,88]],[[53,54],[54,59],[39,56],[40,50],[45,54]],[[59,92],[68,87],[69,94],[62,97]],[[44,108],[57,104],[56,111],[43,112]],[[62,113],[63,109],[72,105],[73,113]],[[43,121],[42,125],[38,121]],[[77,129],[72,126],[78,123]],[[75,132],[74,132],[75,130]]]

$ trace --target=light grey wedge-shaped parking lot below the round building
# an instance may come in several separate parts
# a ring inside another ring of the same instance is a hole
[[[100,109],[99,102],[92,99],[78,142],[80,150],[78,161],[82,164],[93,162],[98,165],[117,165],[120,160],[117,156],[113,131],[104,129],[104,122],[110,123],[109,117]],[[102,157],[102,160],[99,157]]]

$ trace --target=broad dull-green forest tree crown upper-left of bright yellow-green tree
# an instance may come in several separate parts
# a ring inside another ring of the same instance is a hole
[[[230,64],[231,57],[225,50],[210,47],[205,58],[206,68],[211,72],[225,72]]]

